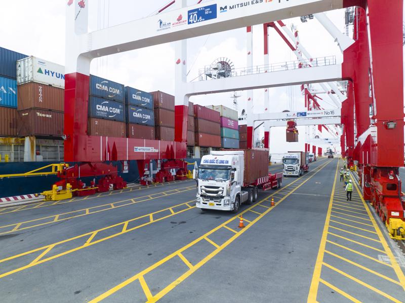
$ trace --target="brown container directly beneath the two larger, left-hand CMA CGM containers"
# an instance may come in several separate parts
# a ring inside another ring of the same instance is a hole
[[[89,118],[87,133],[89,136],[126,138],[125,122],[99,118]]]

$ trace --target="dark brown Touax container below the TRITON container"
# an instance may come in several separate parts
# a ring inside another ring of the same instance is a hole
[[[44,109],[25,109],[18,111],[18,136],[62,136],[62,112]]]

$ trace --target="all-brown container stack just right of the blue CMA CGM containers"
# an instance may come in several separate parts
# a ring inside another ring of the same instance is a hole
[[[164,92],[152,92],[155,115],[155,138],[174,141],[174,96]]]

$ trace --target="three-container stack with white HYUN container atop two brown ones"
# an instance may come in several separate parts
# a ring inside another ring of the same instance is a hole
[[[18,136],[63,135],[65,68],[37,57],[17,61]]]

